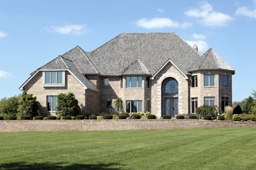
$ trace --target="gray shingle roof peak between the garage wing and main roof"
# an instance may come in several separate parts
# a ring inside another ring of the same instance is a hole
[[[97,69],[92,60],[86,55],[86,52],[79,46],[66,52],[62,57],[73,61],[82,74],[100,74],[100,70]]]

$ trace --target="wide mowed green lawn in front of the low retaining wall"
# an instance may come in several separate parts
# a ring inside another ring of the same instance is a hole
[[[256,128],[0,133],[0,169],[256,169]]]

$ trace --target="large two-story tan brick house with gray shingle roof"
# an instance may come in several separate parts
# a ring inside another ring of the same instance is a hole
[[[73,92],[82,113],[108,112],[122,98],[128,113],[161,117],[231,105],[233,74],[211,48],[201,56],[176,33],[122,33],[92,52],[73,48],[20,89],[37,96],[41,114],[55,113],[56,96]]]

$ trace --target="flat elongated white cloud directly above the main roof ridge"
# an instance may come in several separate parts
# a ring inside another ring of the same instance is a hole
[[[191,23],[178,23],[177,21],[172,21],[169,18],[152,18],[150,20],[142,18],[137,21],[137,26],[142,28],[154,29],[154,28],[186,28],[191,26]]]

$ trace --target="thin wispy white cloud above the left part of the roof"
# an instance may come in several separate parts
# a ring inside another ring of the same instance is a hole
[[[86,25],[66,25],[66,26],[51,26],[45,29],[47,32],[60,33],[60,34],[75,34],[83,35],[92,31]]]

